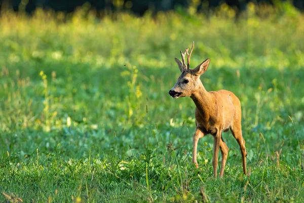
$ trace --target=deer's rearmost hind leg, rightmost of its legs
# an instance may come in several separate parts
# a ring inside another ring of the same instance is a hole
[[[246,169],[246,147],[245,147],[245,140],[243,139],[242,135],[242,126],[241,122],[234,123],[234,125],[230,128],[233,137],[237,140],[238,144],[240,145],[241,153],[242,153],[242,162],[243,162],[243,171],[244,174],[247,174],[247,169]]]

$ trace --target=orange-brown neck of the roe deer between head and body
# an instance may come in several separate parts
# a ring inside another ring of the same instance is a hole
[[[200,114],[208,119],[214,112],[214,98],[200,82],[199,88],[190,96],[198,108]]]

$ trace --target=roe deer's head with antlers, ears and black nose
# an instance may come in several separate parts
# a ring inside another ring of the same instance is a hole
[[[188,53],[189,49],[186,49],[184,53],[180,51],[181,60],[175,58],[175,61],[179,67],[181,72],[180,76],[177,79],[176,84],[170,89],[169,94],[173,98],[191,96],[193,92],[195,92],[201,84],[200,76],[204,74],[208,68],[210,59],[206,59],[200,65],[198,65],[195,69],[190,69],[190,57],[193,51],[194,42],[192,43],[192,48],[190,53]],[[185,55],[187,54],[187,64],[185,63]]]

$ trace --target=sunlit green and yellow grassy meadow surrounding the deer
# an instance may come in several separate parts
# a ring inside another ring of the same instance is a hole
[[[0,201],[303,202],[304,16],[282,7],[250,4],[238,20],[226,6],[208,18],[4,13]],[[211,136],[191,162],[195,105],[168,91],[192,41],[193,65],[211,58],[206,89],[241,100],[248,177],[230,132],[224,179]]]

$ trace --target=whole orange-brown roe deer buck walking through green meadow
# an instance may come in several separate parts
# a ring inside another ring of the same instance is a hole
[[[193,51],[194,42],[190,53],[186,49],[181,53],[182,61],[175,58],[181,75],[178,77],[176,84],[169,91],[173,98],[189,96],[196,105],[195,119],[196,132],[193,136],[193,159],[192,162],[197,163],[197,146],[200,138],[206,134],[212,134],[214,138],[214,154],[212,159],[214,178],[217,176],[218,151],[220,149],[222,159],[219,177],[224,174],[224,167],[228,155],[229,148],[222,139],[222,131],[231,130],[234,138],[237,140],[241,148],[243,171],[246,175],[246,148],[245,140],[242,136],[241,126],[241,103],[238,97],[227,90],[208,92],[203,86],[200,76],[207,71],[210,59],[208,58],[195,69],[190,69],[190,57]],[[187,54],[187,64],[185,63],[185,55]]]

